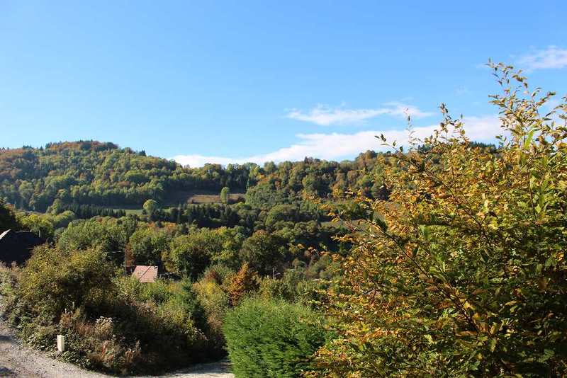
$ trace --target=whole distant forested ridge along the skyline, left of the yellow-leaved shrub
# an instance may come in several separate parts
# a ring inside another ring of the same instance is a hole
[[[366,151],[340,163],[305,158],[262,167],[248,163],[189,168],[113,143],[61,142],[39,149],[0,149],[0,198],[44,212],[54,202],[120,207],[141,206],[152,198],[176,205],[186,200],[186,193],[218,193],[228,187],[246,191],[251,205],[269,207],[305,194],[329,197],[333,190],[386,195],[381,188],[383,164],[386,156]]]

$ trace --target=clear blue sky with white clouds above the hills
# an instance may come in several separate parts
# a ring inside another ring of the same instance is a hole
[[[403,140],[405,112],[430,130],[442,102],[490,140],[489,57],[567,93],[567,1],[435,3],[0,1],[0,146],[341,160]]]

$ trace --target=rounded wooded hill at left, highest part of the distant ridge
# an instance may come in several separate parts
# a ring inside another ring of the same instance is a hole
[[[55,200],[90,205],[141,205],[148,198],[169,200],[183,190],[245,190],[252,164],[208,164],[184,168],[92,141],[47,144],[45,148],[0,150],[0,197],[14,205],[45,211]]]

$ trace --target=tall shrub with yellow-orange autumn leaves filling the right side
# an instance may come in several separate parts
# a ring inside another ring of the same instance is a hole
[[[327,375],[567,374],[567,99],[546,114],[552,93],[524,96],[522,76],[494,68],[498,151],[469,144],[442,107],[425,148],[393,156],[391,202],[358,198],[383,217],[346,238]]]

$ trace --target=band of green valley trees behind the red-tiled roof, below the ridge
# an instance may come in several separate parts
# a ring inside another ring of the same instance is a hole
[[[85,208],[88,213],[90,207]],[[347,242],[335,238],[346,234],[347,229],[321,222],[325,217],[320,210],[308,205],[276,205],[269,211],[245,204],[189,205],[181,210],[184,222],[150,221],[170,211],[158,210],[142,217],[116,217],[113,213],[115,217],[79,219],[70,210],[58,214],[21,212],[0,202],[0,231],[33,231],[65,250],[92,247],[106,253],[119,251],[120,256],[109,255],[118,265],[126,256],[128,265],[158,265],[164,271],[193,279],[213,263],[232,270],[248,263],[260,274],[283,273],[287,268],[313,263],[315,255],[306,250],[325,248],[345,253],[349,248]],[[79,207],[78,214],[86,213]]]

